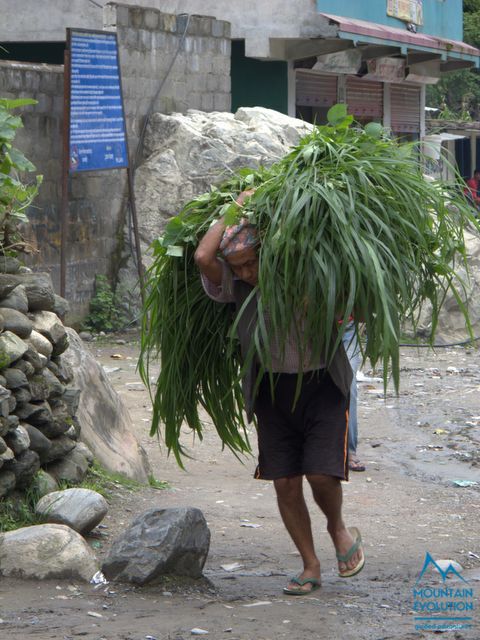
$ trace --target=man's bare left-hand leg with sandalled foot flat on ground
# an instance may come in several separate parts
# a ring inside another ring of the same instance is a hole
[[[300,580],[305,578],[320,580],[320,561],[315,553],[310,514],[305,504],[302,485],[303,476],[274,480],[280,515],[303,561],[303,571],[298,578]],[[291,582],[288,588],[308,593],[312,589],[312,585],[308,583],[299,587]]]

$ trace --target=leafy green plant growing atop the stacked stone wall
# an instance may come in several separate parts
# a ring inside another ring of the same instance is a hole
[[[19,226],[26,222],[26,210],[42,183],[42,176],[36,176],[33,183],[24,182],[23,175],[35,167],[12,144],[23,123],[11,110],[29,104],[36,104],[36,100],[0,99],[0,253],[4,255],[25,250]]]

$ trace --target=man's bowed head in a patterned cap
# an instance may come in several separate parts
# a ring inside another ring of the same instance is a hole
[[[233,273],[253,287],[258,282],[258,231],[248,220],[227,227],[220,251]]]

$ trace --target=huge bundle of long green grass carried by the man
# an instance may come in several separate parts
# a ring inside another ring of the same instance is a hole
[[[280,339],[300,320],[300,351],[308,344],[328,361],[353,317],[366,327],[364,359],[398,388],[401,325],[415,328],[426,301],[431,341],[448,291],[470,330],[456,268],[467,266],[465,228],[480,229],[461,188],[426,181],[418,145],[390,139],[378,124],[356,126],[344,105],[330,110],[328,122],[269,169],[244,169],[189,202],[153,243],[140,373],[152,396],[151,435],[163,434],[180,465],[182,425],[202,437],[200,407],[224,446],[250,450],[235,310],[205,295],[193,260],[221,216],[227,224],[246,216],[258,227],[259,311],[268,309]],[[240,208],[235,198],[251,188]],[[262,322],[254,344],[252,357],[268,369]]]

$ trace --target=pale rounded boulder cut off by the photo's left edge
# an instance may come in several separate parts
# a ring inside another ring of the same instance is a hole
[[[60,524],[23,527],[0,534],[0,575],[89,581],[97,572],[82,536]]]

